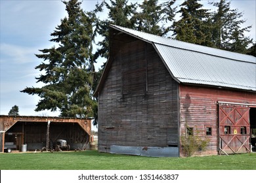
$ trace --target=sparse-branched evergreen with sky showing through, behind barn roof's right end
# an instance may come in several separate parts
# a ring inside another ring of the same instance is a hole
[[[215,47],[232,52],[246,54],[247,46],[252,43],[252,39],[245,37],[245,32],[249,32],[251,26],[242,28],[245,20],[242,20],[242,12],[230,8],[230,1],[221,0],[219,3],[211,3],[217,7],[217,12],[213,13],[212,42]]]

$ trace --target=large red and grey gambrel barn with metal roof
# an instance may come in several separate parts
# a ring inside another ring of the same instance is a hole
[[[256,58],[110,25],[110,57],[96,88],[98,150],[194,156],[255,150]]]

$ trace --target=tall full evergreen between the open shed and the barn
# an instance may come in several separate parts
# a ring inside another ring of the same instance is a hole
[[[25,88],[21,92],[39,95],[41,100],[35,111],[60,110],[60,116],[93,116],[93,12],[83,12],[77,0],[63,2],[68,17],[51,33],[51,42],[58,46],[39,50],[36,54],[43,59],[35,69],[43,71],[37,82],[42,88]]]

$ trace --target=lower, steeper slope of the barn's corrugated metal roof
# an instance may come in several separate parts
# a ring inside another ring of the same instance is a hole
[[[156,49],[181,82],[256,91],[256,65],[161,44]]]

